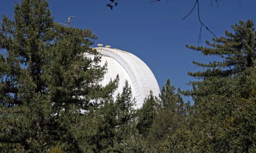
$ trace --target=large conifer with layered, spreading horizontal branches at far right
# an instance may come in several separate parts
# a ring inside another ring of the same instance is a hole
[[[212,95],[221,94],[231,96],[232,93],[227,93],[228,90],[225,88],[229,85],[227,82],[247,68],[255,67],[256,31],[254,23],[251,20],[239,21],[232,28],[234,33],[225,31],[226,37],[213,38],[213,43],[207,41],[208,47],[187,45],[193,50],[200,51],[204,56],[216,56],[222,59],[222,61],[209,62],[209,64],[193,62],[195,65],[207,68],[206,71],[195,73],[189,71],[188,73],[192,77],[203,79],[203,81],[189,82],[193,89],[182,92],[192,96],[195,101],[194,108],[201,109],[204,105],[208,105],[207,100],[204,100],[206,96],[209,98]]]

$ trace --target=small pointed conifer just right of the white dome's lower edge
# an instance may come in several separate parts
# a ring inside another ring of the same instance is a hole
[[[175,87],[171,85],[170,79],[163,86],[159,98],[157,102],[160,103],[160,107],[157,109],[156,117],[145,139],[148,146],[154,148],[155,152],[168,152],[163,148],[166,148],[169,138],[173,137],[180,129],[185,130],[188,127],[187,120],[191,106],[189,102],[183,102],[179,93],[175,94]],[[168,147],[175,147],[175,145],[177,144]]]

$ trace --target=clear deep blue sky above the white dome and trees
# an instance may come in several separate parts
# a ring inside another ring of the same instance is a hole
[[[99,38],[93,46],[111,45],[142,59],[153,71],[160,88],[168,78],[176,88],[191,88],[186,83],[194,79],[187,72],[202,70],[192,61],[214,59],[185,47],[198,43],[200,23],[196,10],[181,20],[195,0],[119,0],[113,10],[106,7],[108,1],[49,0],[49,6],[55,22],[65,23],[68,16],[75,16],[70,26],[92,30]],[[256,0],[221,0],[218,8],[212,1],[211,7],[210,0],[200,0],[201,19],[217,37],[223,36],[226,29],[231,30],[230,26],[239,20],[256,22]],[[1,0],[0,19],[3,14],[12,18],[14,5],[14,0]],[[203,29],[200,45],[211,39],[212,35]]]

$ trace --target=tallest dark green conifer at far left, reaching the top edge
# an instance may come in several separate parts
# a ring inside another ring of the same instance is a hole
[[[0,31],[1,55],[1,150],[40,152],[48,131],[42,128],[51,114],[45,96],[43,65],[54,39],[53,18],[45,1],[23,0],[15,5],[15,20],[5,15]],[[48,53],[47,53],[48,52]]]

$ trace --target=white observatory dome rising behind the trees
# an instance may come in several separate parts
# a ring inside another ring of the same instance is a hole
[[[160,94],[159,85],[154,74],[141,59],[129,52],[111,48],[109,45],[102,46],[102,44],[98,44],[98,48],[96,48],[102,55],[100,65],[104,65],[105,62],[108,63],[108,71],[101,82],[102,85],[107,85],[111,78],[113,80],[117,74],[119,75],[119,87],[114,93],[114,97],[118,93],[122,93],[125,80],[131,86],[132,95],[136,100],[136,108],[142,107],[144,98],[149,95],[150,91],[153,92],[154,96]]]

